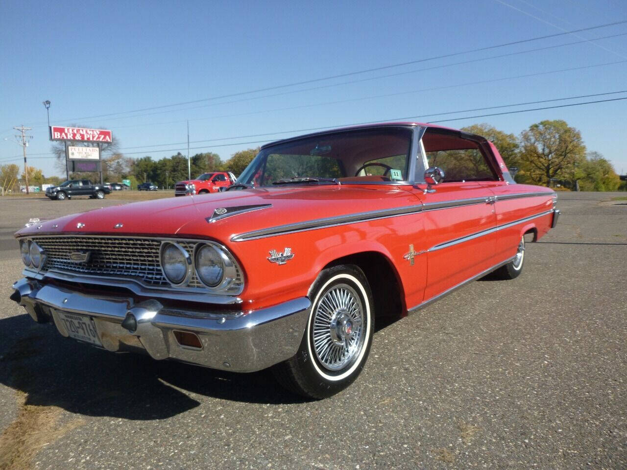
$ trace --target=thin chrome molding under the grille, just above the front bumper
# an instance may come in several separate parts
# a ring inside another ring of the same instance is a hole
[[[181,300],[189,302],[200,302],[216,305],[234,305],[242,303],[241,298],[229,295],[211,295],[206,291],[194,293],[182,291],[181,289],[167,288],[145,288],[138,283],[123,278],[107,278],[103,276],[89,276],[88,274],[71,274],[61,271],[47,271],[45,273],[37,273],[25,268],[22,275],[26,278],[37,279],[43,281],[45,279],[55,279],[57,281],[68,281],[73,283],[89,284],[94,286],[108,286],[128,289],[134,294],[147,296],[150,298],[167,298],[171,300]]]

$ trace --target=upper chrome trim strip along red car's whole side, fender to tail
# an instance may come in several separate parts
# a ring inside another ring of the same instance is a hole
[[[528,192],[514,194],[512,196],[517,198],[535,196],[552,197],[553,194],[554,193],[551,192]],[[409,214],[415,214],[423,211],[437,211],[440,209],[449,209],[451,207],[472,206],[473,204],[490,204],[491,201],[494,201],[494,199],[491,199],[492,197],[494,196],[471,197],[469,199],[455,199],[453,201],[442,202],[426,202],[425,204],[421,204],[420,206],[404,206],[397,207],[396,209],[379,209],[377,211],[359,212],[357,214],[347,214],[345,216],[334,216],[326,217],[324,219],[314,219],[312,221],[295,222],[293,224],[278,225],[274,227],[268,227],[266,229],[236,234],[231,237],[231,241],[249,241],[295,232],[304,232],[308,230],[336,227],[350,223],[385,219],[386,217],[406,216]],[[498,198],[499,196],[496,197]],[[514,199],[514,197],[508,197],[507,199]]]

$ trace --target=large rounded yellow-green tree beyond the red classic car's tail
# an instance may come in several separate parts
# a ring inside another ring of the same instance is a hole
[[[569,179],[585,161],[586,146],[581,133],[562,120],[545,120],[520,133],[520,165],[536,184],[550,185],[551,179]]]

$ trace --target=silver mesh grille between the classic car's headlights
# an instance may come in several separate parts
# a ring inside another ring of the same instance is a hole
[[[113,237],[34,237],[46,252],[45,271],[55,269],[68,273],[100,274],[103,276],[135,278],[148,286],[169,286],[161,271],[159,249],[161,240],[149,238]],[[182,243],[192,254],[196,243]],[[70,253],[89,251],[84,263],[71,261]],[[189,287],[203,287],[194,276]]]

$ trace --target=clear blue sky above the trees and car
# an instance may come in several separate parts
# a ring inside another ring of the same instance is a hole
[[[189,120],[190,140],[208,141],[191,144],[202,147],[191,154],[213,151],[227,159],[236,150],[258,145],[249,142],[310,128],[431,114],[416,120],[435,121],[627,97],[619,93],[435,115],[627,90],[627,35],[586,41],[627,33],[623,23],[215,99],[624,19],[624,0],[4,2],[0,164],[21,163],[21,148],[10,140],[11,127],[24,124],[33,127],[29,164],[45,175],[55,172],[43,100],[52,102],[51,124],[110,128],[126,155],[159,159],[178,150],[186,154],[181,143]],[[576,41],[583,42],[494,57]],[[477,61],[454,65],[471,60]],[[582,68],[587,66],[592,67]],[[556,72],[567,68],[579,70]],[[384,76],[391,74],[396,75]],[[355,80],[360,81],[343,83]],[[465,85],[487,80],[492,81]],[[214,99],[198,101],[206,98]],[[164,107],[181,102],[195,103]],[[107,116],[92,118],[101,115]],[[518,134],[540,120],[564,119],[581,130],[589,150],[601,152],[617,172],[625,173],[626,115],[627,100],[619,100],[443,124],[487,122]],[[247,137],[251,135],[260,136]]]

